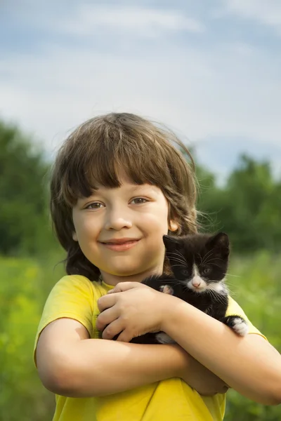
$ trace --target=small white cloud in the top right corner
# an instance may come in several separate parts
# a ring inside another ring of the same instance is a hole
[[[222,8],[224,13],[256,20],[263,25],[274,27],[281,34],[280,0],[223,0]]]

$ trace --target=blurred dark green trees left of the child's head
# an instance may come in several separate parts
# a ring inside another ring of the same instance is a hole
[[[0,121],[0,253],[43,252],[53,244],[43,152]],[[3,200],[4,199],[4,200]]]

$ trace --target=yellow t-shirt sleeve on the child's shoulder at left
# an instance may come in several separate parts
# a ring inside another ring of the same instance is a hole
[[[44,328],[57,319],[67,317],[79,321],[93,335],[93,288],[84,276],[64,276],[48,295],[34,343],[34,363],[39,336]]]

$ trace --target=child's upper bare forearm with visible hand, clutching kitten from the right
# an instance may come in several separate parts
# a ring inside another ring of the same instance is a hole
[[[118,283],[98,300],[103,338],[163,330],[226,385],[264,405],[281,403],[281,355],[265,339],[241,338],[192,305],[136,282]]]

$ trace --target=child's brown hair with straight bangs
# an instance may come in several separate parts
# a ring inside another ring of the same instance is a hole
[[[51,217],[55,234],[67,251],[67,274],[98,279],[98,267],[72,239],[72,208],[79,197],[91,196],[97,184],[119,187],[119,168],[136,184],[150,183],[162,190],[169,203],[169,220],[179,225],[169,234],[197,232],[195,165],[183,143],[164,126],[135,114],[96,116],[65,140],[51,174]]]

